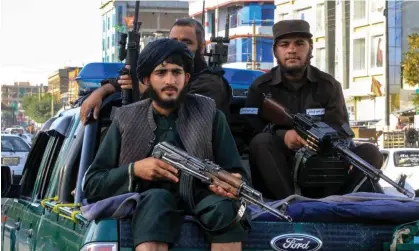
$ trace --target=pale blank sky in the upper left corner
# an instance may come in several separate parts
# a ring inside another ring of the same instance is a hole
[[[0,84],[101,61],[101,0],[0,0]]]

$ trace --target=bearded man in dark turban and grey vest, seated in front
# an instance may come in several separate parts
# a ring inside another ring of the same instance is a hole
[[[137,75],[148,86],[149,98],[116,110],[84,178],[91,202],[140,193],[132,218],[136,250],[168,250],[184,214],[196,216],[207,230],[212,250],[241,250],[247,236],[249,215],[237,220],[239,205],[231,193],[150,157],[157,143],[167,141],[249,180],[224,114],[214,100],[188,93],[192,57],[184,43],[171,39],[156,40],[143,49]],[[190,186],[185,189],[185,184]]]

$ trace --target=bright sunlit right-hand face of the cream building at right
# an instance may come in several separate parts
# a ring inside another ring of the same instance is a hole
[[[386,17],[385,1],[350,1],[349,88],[344,91],[350,120],[385,118]],[[389,16],[389,18],[391,18]],[[391,48],[390,48],[391,50]],[[400,63],[400,59],[398,60]],[[399,69],[400,70],[400,69]],[[392,74],[394,74],[393,71]],[[374,93],[378,85],[380,93]],[[397,86],[390,81],[391,87]],[[400,85],[399,85],[400,86]],[[390,93],[398,92],[390,88]],[[394,99],[391,95],[390,100]],[[395,104],[394,100],[393,106]]]

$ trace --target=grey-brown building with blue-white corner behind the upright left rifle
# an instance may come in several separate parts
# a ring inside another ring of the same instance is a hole
[[[119,45],[121,33],[132,28],[135,1],[102,1],[102,62],[121,62]],[[185,1],[141,1],[139,21],[141,25],[140,46],[159,37],[167,37],[173,23],[188,16],[188,2]]]

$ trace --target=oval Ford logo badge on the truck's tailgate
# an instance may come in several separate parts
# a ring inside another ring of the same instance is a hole
[[[323,246],[322,241],[308,234],[283,234],[271,240],[271,247],[277,251],[316,251]]]

